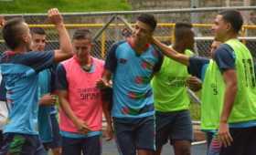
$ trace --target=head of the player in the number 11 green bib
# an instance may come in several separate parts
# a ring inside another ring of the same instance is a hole
[[[216,16],[212,30],[215,33],[215,38],[224,42],[230,34],[238,35],[242,24],[243,19],[240,12],[236,10],[225,10]]]

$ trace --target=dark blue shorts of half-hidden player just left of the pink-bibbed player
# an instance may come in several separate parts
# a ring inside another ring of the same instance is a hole
[[[59,133],[59,122],[55,115],[50,115],[51,129],[52,129],[52,141],[44,142],[43,145],[46,150],[56,149],[61,147],[61,136]]]

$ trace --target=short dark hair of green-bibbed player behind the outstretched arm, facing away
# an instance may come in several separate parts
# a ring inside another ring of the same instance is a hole
[[[187,36],[187,30],[191,30],[193,26],[191,23],[177,22],[175,26],[175,38],[176,40],[182,40]]]

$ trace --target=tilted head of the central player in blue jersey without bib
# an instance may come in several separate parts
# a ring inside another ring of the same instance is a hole
[[[147,43],[153,36],[156,24],[157,22],[154,15],[139,15],[133,28],[134,41],[143,44]]]

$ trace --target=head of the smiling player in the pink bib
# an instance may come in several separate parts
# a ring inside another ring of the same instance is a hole
[[[73,50],[80,60],[91,56],[91,31],[89,29],[78,29],[72,37]]]

